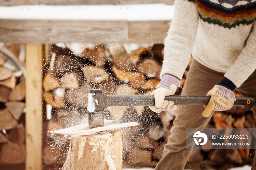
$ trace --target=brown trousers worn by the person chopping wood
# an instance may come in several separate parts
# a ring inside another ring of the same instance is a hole
[[[182,96],[206,96],[207,92],[218,84],[224,77],[224,73],[211,70],[193,60],[187,79],[182,89]],[[236,89],[244,97],[256,98],[256,72],[254,72],[239,88]],[[203,117],[203,106],[180,105],[176,110],[176,118],[170,130],[170,136],[164,147],[163,157],[155,167],[156,170],[182,170],[192,149],[186,149],[186,128],[204,128],[212,115]],[[256,118],[256,104],[252,108]],[[253,124],[253,128],[256,123]],[[191,134],[193,135],[193,134]],[[191,143],[195,146],[195,143]],[[252,169],[256,168],[256,156]]]

